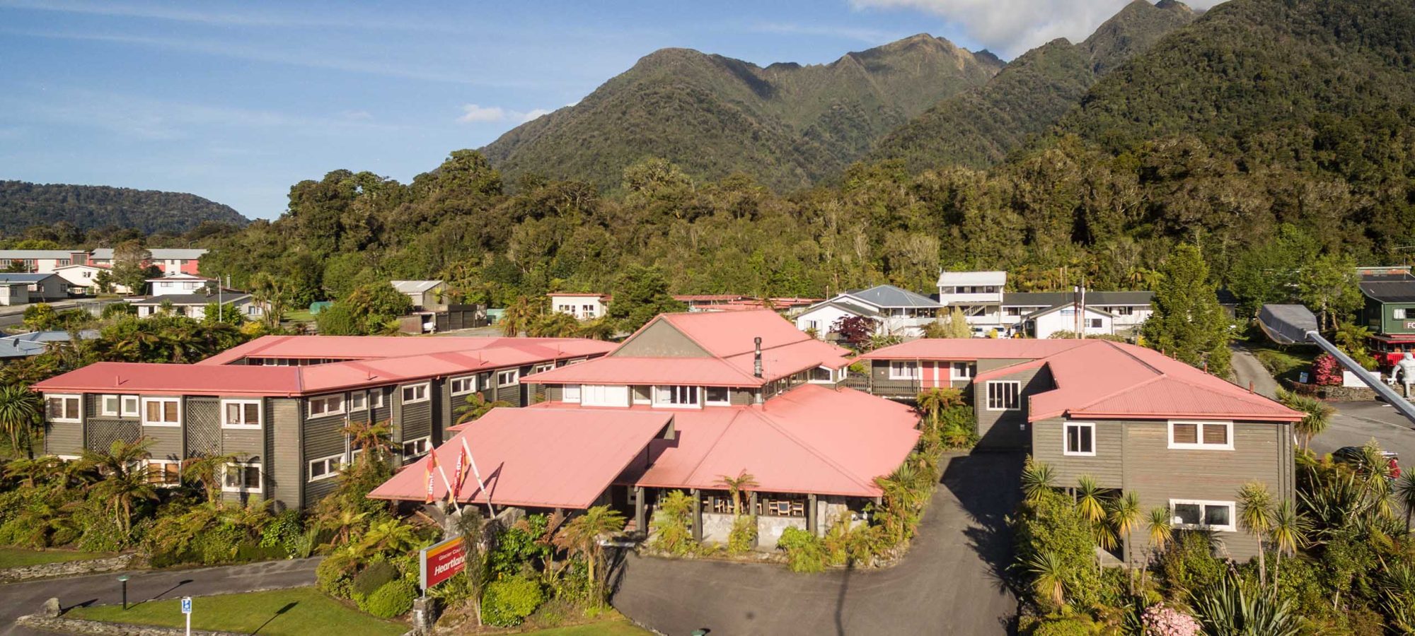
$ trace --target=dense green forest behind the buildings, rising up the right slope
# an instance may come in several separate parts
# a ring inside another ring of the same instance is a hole
[[[614,291],[634,264],[661,266],[681,293],[822,295],[927,291],[940,267],[1006,269],[1019,288],[1149,288],[1180,240],[1225,285],[1254,269],[1399,261],[1415,243],[1412,13],[1231,0],[1107,76],[1070,134],[989,170],[862,164],[838,187],[781,195],[647,160],[611,195],[587,179],[508,194],[478,153],[457,151],[409,185],[350,171],[297,184],[287,216],[216,239],[202,266],[238,285],[270,270],[300,301],[439,277],[499,305]],[[1272,263],[1278,237],[1307,257]]]

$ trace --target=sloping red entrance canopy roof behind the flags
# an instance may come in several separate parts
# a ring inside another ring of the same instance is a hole
[[[566,408],[494,408],[437,447],[437,464],[456,481],[463,440],[487,490],[468,468],[461,502],[524,507],[590,507],[614,478],[644,454],[674,413]],[[408,465],[369,493],[372,499],[424,500],[429,458]],[[433,473],[434,497],[447,496]],[[490,496],[488,496],[490,495]]]

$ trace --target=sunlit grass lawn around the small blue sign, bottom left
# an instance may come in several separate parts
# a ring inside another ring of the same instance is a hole
[[[314,588],[197,596],[191,601],[192,629],[243,633],[256,633],[259,630],[259,633],[267,636],[392,636],[408,632],[408,623],[376,619],[358,609],[345,606]],[[130,606],[126,612],[119,605],[74,608],[65,616],[168,628],[181,628],[185,625],[178,599],[150,601]]]

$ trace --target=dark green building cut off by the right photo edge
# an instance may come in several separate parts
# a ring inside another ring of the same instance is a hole
[[[1357,267],[1364,305],[1357,322],[1371,329],[1370,349],[1381,366],[1415,352],[1415,276],[1409,267]]]

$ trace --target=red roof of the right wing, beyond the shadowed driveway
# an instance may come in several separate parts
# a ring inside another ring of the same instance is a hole
[[[1302,414],[1204,373],[1157,351],[1099,339],[921,339],[886,346],[862,359],[1019,359],[978,373],[974,382],[1046,366],[1056,387],[1030,397],[1032,421],[1095,418],[1197,418],[1298,421]]]

